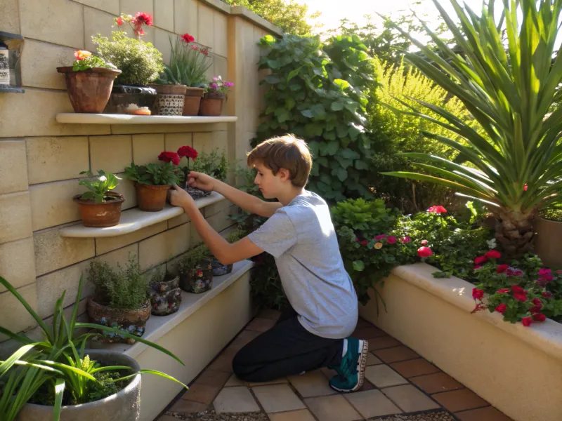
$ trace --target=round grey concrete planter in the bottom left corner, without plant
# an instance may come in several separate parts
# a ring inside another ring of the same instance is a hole
[[[86,352],[91,359],[105,366],[129,366],[134,373],[141,368],[130,356],[114,351],[90,349]],[[108,396],[100,401],[83,405],[63,406],[60,421],[138,421],[141,416],[141,375],[133,380],[119,393]],[[53,419],[53,407],[43,405],[25,405],[17,421],[46,421]]]

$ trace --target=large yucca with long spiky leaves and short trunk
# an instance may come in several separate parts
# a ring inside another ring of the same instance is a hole
[[[437,0],[433,3],[455,37],[456,53],[424,25],[440,51],[405,34],[426,56],[408,53],[406,59],[459,98],[485,135],[445,109],[417,100],[445,121],[427,116],[424,108],[410,107],[407,114],[459,135],[460,140],[452,140],[424,133],[457,149],[459,157],[454,162],[431,154],[403,154],[429,161],[419,166],[435,175],[387,174],[436,182],[488,203],[497,218],[497,240],[508,255],[520,255],[532,248],[537,210],[556,200],[562,187],[562,107],[549,113],[562,79],[562,55],[555,51],[562,1],[504,0],[498,24],[494,0],[483,4],[481,16],[450,1],[462,29]]]

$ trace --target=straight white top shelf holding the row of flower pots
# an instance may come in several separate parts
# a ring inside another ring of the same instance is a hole
[[[132,114],[87,114],[63,112],[57,114],[59,123],[71,124],[192,124],[233,123],[236,116],[136,116]]]

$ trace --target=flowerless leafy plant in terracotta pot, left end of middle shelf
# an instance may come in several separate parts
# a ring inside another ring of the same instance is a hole
[[[78,182],[88,191],[77,194],[73,200],[78,203],[84,227],[114,227],[119,224],[125,197],[111,190],[119,185],[120,178],[106,174],[103,170],[98,171],[97,177],[91,171],[82,171],[80,174],[89,177]]]

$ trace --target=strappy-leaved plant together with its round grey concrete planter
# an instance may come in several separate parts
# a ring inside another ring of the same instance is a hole
[[[55,303],[52,325],[43,321],[1,276],[0,284],[21,302],[44,335],[41,342],[35,342],[0,328],[1,333],[22,344],[8,359],[0,361],[0,420],[137,421],[141,415],[142,373],[178,382],[156,370],[140,370],[134,359],[121,352],[86,349],[90,334],[75,336],[75,331],[96,328],[143,342],[183,364],[167,349],[148,340],[108,326],[77,322],[82,279],[70,318],[63,308],[63,293]]]

